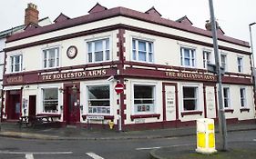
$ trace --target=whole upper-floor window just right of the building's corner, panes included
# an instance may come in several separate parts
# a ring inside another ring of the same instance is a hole
[[[132,60],[153,63],[153,43],[138,39],[132,40]]]

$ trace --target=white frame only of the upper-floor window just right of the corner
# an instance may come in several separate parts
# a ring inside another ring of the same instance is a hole
[[[134,41],[135,41],[135,48],[133,47]],[[139,57],[138,42],[146,43],[146,61],[138,59],[138,57]],[[149,44],[151,44],[151,52],[149,52]],[[135,52],[135,55],[134,55],[134,52]],[[151,54],[152,61],[149,61],[149,54]],[[148,40],[148,39],[132,37],[131,38],[131,61],[153,64],[155,62],[154,41]]]

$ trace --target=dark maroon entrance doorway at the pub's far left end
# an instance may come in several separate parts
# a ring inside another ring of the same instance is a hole
[[[20,94],[18,91],[10,91],[8,96],[7,119],[18,120],[21,114]]]

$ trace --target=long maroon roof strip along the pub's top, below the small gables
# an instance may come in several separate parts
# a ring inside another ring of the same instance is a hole
[[[84,25],[87,23],[92,23],[92,22],[96,22],[99,20],[103,20],[103,19],[107,19],[107,18],[111,18],[111,17],[115,17],[115,16],[126,16],[129,18],[138,19],[138,20],[156,24],[156,25],[163,25],[163,26],[167,26],[170,28],[182,30],[185,32],[211,37],[211,32],[207,31],[205,29],[201,29],[201,28],[198,28],[198,27],[195,27],[192,25],[184,25],[182,23],[172,21],[169,19],[165,19],[165,18],[161,18],[159,16],[151,16],[151,15],[141,13],[141,12],[138,12],[138,11],[135,11],[132,9],[125,8],[125,7],[114,7],[114,8],[108,9],[108,10],[104,10],[102,12],[97,12],[94,14],[89,14],[89,15],[84,15],[84,16],[80,16],[77,18],[72,18],[72,19],[65,21],[65,23],[61,23],[61,24],[56,23],[53,25],[46,25],[43,27],[38,27],[34,31],[27,31],[27,32],[23,32],[20,34],[15,34],[15,35],[10,36],[6,42],[8,43],[8,42],[23,39],[23,38],[26,38],[29,36],[34,36],[34,35],[46,34],[49,32],[54,32],[56,30],[61,30],[61,29],[65,29],[65,28],[73,27],[73,26],[77,26],[77,25]],[[235,39],[235,38],[232,38],[232,37],[229,37],[226,35],[219,35],[218,38],[222,41],[226,41],[226,42],[229,42],[232,44],[250,47],[248,42],[245,42],[245,41],[242,41],[239,39]]]

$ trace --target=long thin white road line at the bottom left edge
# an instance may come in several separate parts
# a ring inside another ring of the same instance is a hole
[[[9,151],[0,151],[0,154],[73,154],[73,152],[9,152]]]

